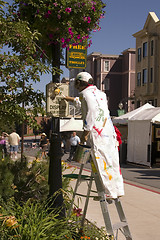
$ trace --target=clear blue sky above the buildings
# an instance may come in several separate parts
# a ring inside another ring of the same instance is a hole
[[[101,30],[92,34],[92,45],[87,54],[119,55],[125,49],[135,48],[136,40],[132,36],[143,29],[149,12],[155,12],[160,19],[160,0],[103,0],[106,4],[105,17],[101,19]],[[69,71],[62,67],[63,77],[69,77]],[[45,92],[45,86],[51,81],[50,75],[42,75],[35,89]]]

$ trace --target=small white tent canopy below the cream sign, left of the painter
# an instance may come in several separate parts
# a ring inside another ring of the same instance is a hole
[[[81,119],[61,119],[60,132],[83,131],[83,121]]]

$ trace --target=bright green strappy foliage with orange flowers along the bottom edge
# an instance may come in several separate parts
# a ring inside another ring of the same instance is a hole
[[[80,231],[80,220],[75,214],[70,219],[59,218],[59,209],[48,212],[46,204],[28,200],[23,205],[13,198],[5,203],[0,199],[1,240],[107,240],[103,229],[89,221]],[[76,221],[75,221],[76,220]]]

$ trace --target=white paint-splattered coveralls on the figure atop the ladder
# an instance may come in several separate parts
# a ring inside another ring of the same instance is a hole
[[[88,140],[92,158],[105,192],[112,198],[122,196],[124,185],[119,166],[118,144],[106,94],[96,86],[89,86],[80,92],[79,100],[75,98],[77,105],[81,103],[84,130],[90,131]]]

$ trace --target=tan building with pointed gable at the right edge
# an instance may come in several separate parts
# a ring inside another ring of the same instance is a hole
[[[136,38],[135,107],[145,103],[160,106],[160,21],[149,12]]]

